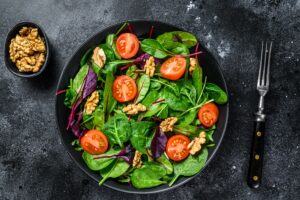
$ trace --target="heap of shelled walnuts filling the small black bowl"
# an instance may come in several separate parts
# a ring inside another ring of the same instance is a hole
[[[9,56],[20,72],[38,72],[45,62],[46,46],[37,28],[22,27],[10,41]]]

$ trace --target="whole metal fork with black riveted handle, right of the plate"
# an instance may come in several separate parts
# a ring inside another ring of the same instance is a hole
[[[261,184],[263,153],[264,153],[264,135],[265,120],[264,97],[266,96],[270,85],[270,61],[273,42],[261,45],[261,57],[256,89],[259,93],[258,111],[255,113],[255,124],[252,139],[252,149],[250,155],[248,185],[251,188],[258,188]]]

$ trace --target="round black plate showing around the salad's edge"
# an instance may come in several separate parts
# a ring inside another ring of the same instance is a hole
[[[77,71],[79,70],[80,67],[79,62],[83,54],[90,47],[103,43],[105,37],[110,33],[115,33],[121,27],[122,24],[123,23],[116,24],[111,27],[105,28],[101,31],[98,31],[95,35],[89,38],[75,51],[75,53],[71,56],[71,58],[69,59],[69,61],[67,62],[67,64],[63,69],[63,72],[60,76],[59,83],[57,86],[57,91],[68,87],[70,78],[73,78],[77,73]],[[152,25],[155,27],[154,37],[164,32],[181,30],[180,28],[177,28],[173,25],[158,22],[158,21],[132,21],[130,22],[130,24],[132,25],[134,32],[138,36],[147,35]],[[216,59],[203,46],[201,47],[201,50],[204,51],[204,53],[200,56],[200,65],[203,67],[204,74],[208,77],[208,81],[218,84],[221,88],[223,88],[227,92],[226,83]],[[64,106],[63,102],[64,102],[63,94],[56,96],[56,121],[60,130],[60,138],[63,144],[65,145],[68,153],[70,154],[71,158],[75,161],[75,163],[92,179],[99,182],[99,180],[101,179],[99,172],[94,172],[90,170],[84,163],[81,157],[81,153],[75,151],[71,145],[71,142],[75,139],[75,136],[73,136],[71,132],[66,131],[70,110]],[[215,148],[209,149],[209,156],[205,167],[212,160],[212,158],[216,154],[221,144],[227,126],[228,114],[229,114],[229,105],[226,104],[224,106],[220,106],[220,117],[217,123],[217,130],[214,133],[214,140],[216,146]],[[122,184],[112,179],[106,181],[104,185],[109,188],[123,191],[123,192],[128,192],[128,193],[141,193],[141,194],[157,193],[157,192],[163,192],[178,187],[190,181],[195,176],[181,177],[175,182],[175,184],[172,187],[168,187],[168,185],[166,184],[155,188],[138,190],[135,189],[134,187],[131,187],[128,184]]]

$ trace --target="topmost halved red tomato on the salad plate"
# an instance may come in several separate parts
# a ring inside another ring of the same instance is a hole
[[[117,38],[117,52],[124,59],[132,58],[139,51],[139,40],[132,33],[123,33]]]

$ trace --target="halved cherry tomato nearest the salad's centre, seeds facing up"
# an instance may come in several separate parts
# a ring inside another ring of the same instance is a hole
[[[119,76],[113,84],[113,96],[118,102],[126,102],[134,99],[137,88],[134,80],[129,76]]]

